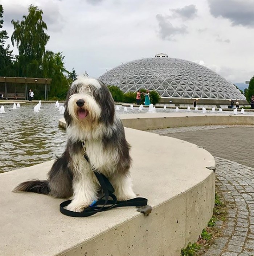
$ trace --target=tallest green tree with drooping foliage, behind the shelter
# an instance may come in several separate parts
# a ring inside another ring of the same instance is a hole
[[[46,23],[42,20],[42,10],[30,5],[28,15],[23,20],[12,20],[14,31],[11,36],[12,45],[19,49],[19,76],[38,76],[45,54],[45,46],[49,41]]]

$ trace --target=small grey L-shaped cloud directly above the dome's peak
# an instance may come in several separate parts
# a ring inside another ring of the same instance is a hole
[[[170,16],[163,16],[161,14],[156,15],[156,19],[159,22],[159,35],[163,40],[173,40],[173,37],[177,34],[184,35],[187,32],[187,27],[174,27],[170,22]]]

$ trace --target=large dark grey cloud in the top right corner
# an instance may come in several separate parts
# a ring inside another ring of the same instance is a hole
[[[214,17],[229,19],[233,26],[254,27],[254,4],[251,0],[208,0]]]

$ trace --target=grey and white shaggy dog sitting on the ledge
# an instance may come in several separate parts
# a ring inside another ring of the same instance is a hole
[[[82,212],[98,199],[100,187],[93,168],[110,180],[118,200],[134,198],[129,172],[130,145],[105,84],[96,79],[78,77],[67,93],[64,117],[67,145],[50,169],[48,180],[23,182],[14,192],[30,191],[71,198],[67,209]],[[89,163],[83,156],[85,151]]]

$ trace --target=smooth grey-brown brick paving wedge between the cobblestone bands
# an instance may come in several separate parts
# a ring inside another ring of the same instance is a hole
[[[254,168],[254,128],[227,127],[165,134],[204,147],[213,156]]]

